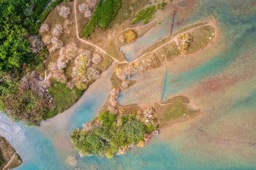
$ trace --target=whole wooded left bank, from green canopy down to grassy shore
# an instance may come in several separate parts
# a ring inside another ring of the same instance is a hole
[[[70,107],[82,94],[75,88],[59,88],[63,93],[57,94],[56,88],[61,86],[58,83],[47,92],[41,75],[48,52],[40,37],[32,35],[38,33],[40,22],[63,1],[66,0],[55,0],[47,7],[50,0],[0,3],[0,110],[15,121],[39,125],[41,120]],[[24,63],[26,68],[22,68]]]

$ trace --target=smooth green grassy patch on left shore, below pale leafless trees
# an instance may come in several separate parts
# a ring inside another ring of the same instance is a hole
[[[66,87],[66,84],[55,80],[52,81],[52,84],[53,85],[49,87],[49,93],[54,95],[56,109],[48,112],[48,114],[44,116],[44,119],[50,118],[52,115],[56,115],[70,108],[83,94],[82,90],[76,87],[69,89]]]

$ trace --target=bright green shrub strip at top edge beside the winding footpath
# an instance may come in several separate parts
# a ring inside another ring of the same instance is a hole
[[[85,26],[84,31],[80,37],[89,37],[90,33],[94,31],[95,27],[101,25],[105,30],[109,23],[116,17],[117,10],[121,7],[121,0],[99,0],[96,9],[91,17],[89,23]]]

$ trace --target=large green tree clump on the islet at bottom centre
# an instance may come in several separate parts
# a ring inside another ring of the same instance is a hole
[[[143,124],[135,114],[119,117],[104,111],[83,128],[74,130],[70,140],[84,156],[95,154],[113,158],[119,149],[143,141],[145,134],[156,128],[157,125]]]

